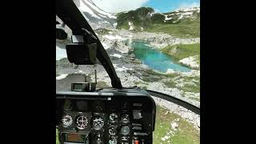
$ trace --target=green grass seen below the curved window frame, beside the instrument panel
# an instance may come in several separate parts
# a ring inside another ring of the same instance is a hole
[[[177,144],[198,144],[200,139],[200,132],[195,130],[194,126],[189,122],[186,122],[183,118],[177,114],[170,113],[169,110],[157,106],[156,123],[154,130],[154,144],[158,143],[177,143]],[[179,121],[175,121],[179,118]],[[178,130],[173,130],[170,123],[176,122],[178,124]],[[169,132],[169,134],[167,134]],[[170,134],[171,132],[171,134]],[[170,138],[166,141],[162,141],[169,135]],[[168,142],[169,141],[169,142]]]

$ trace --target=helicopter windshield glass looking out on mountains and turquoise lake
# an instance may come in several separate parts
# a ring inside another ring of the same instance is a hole
[[[199,0],[74,3],[109,54],[123,87],[158,91],[200,107]],[[64,28],[68,38],[56,40],[56,89],[70,89],[71,82],[84,82],[81,74],[88,74],[87,79],[93,82],[94,70],[97,88],[111,87],[100,63],[76,66],[67,60],[65,46],[71,42],[71,30]],[[200,115],[153,98],[157,104],[154,143],[199,143]]]

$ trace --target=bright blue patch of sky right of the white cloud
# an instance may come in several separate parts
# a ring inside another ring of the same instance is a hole
[[[199,6],[200,0],[150,0],[144,6],[153,7],[154,10],[161,13],[177,10],[184,6]]]

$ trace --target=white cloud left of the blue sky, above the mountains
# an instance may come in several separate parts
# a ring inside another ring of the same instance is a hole
[[[91,0],[96,6],[110,13],[135,10],[150,0]]]

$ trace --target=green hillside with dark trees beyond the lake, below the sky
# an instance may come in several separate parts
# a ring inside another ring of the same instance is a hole
[[[166,16],[172,14],[171,19],[165,20]],[[163,32],[171,34],[178,38],[198,38],[200,37],[200,14],[193,13],[191,18],[182,18],[176,12],[171,13],[154,13],[154,10],[150,7],[141,7],[137,10],[130,10],[126,13],[118,13],[117,22],[118,29],[130,28],[128,22],[132,22],[134,30],[144,30],[149,32]]]

